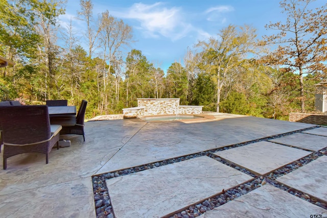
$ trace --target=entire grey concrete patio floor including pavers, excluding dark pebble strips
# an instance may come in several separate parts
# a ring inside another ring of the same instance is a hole
[[[308,130],[311,127],[317,128]],[[92,176],[269,136],[300,130],[214,156],[265,176],[327,147],[325,127],[222,113],[182,122],[99,120],[86,122],[84,130],[85,142],[82,136],[63,136],[72,144],[53,149],[49,164],[44,154],[21,154],[8,158],[3,170],[0,155],[0,217],[97,217]],[[276,181],[327,203],[326,166],[323,155]],[[115,217],[163,217],[253,179],[201,156],[112,178],[106,184]],[[267,183],[200,217],[312,214],[327,217],[327,210]]]

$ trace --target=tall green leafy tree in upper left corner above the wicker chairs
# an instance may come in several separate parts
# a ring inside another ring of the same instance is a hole
[[[51,39],[55,34],[49,30],[64,10],[60,1],[17,0],[12,3],[2,1],[0,9],[0,55],[16,62],[14,68],[4,69],[4,78],[9,77],[6,85],[18,87],[24,82],[17,93],[30,93],[44,100],[54,84],[50,75],[56,67],[54,59],[58,49]],[[31,87],[30,82],[35,82],[35,86]]]

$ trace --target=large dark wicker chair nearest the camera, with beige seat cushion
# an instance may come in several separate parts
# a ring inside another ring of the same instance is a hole
[[[0,107],[0,129],[4,140],[4,169],[7,158],[23,153],[48,154],[57,143],[59,149],[60,125],[50,125],[48,106]]]

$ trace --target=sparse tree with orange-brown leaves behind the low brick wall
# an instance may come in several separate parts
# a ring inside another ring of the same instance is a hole
[[[312,0],[284,0],[282,13],[287,19],[270,23],[266,28],[278,30],[276,35],[266,36],[267,44],[277,44],[276,50],[263,60],[271,65],[287,67],[286,70],[299,74],[301,112],[305,112],[305,87],[303,75],[325,72],[327,61],[327,4],[310,8]]]

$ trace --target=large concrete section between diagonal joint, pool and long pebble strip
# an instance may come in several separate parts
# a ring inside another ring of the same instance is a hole
[[[250,116],[196,124],[147,123],[96,174],[313,126]]]

